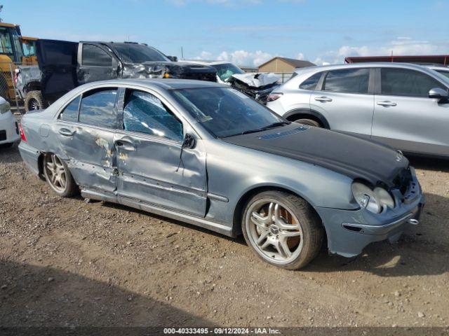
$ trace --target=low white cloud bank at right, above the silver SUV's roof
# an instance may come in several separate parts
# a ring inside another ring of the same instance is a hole
[[[348,56],[389,56],[393,55],[432,55],[447,53],[449,43],[432,43],[429,41],[413,40],[410,37],[400,36],[385,45],[342,45],[337,50],[321,53],[315,59],[316,64],[323,62],[343,63]]]

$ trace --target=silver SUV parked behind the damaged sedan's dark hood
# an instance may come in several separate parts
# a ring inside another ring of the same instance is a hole
[[[449,78],[401,63],[310,66],[268,97],[280,116],[449,158]]]

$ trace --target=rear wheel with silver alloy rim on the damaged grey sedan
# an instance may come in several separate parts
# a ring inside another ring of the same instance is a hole
[[[58,155],[48,153],[43,158],[43,174],[50,188],[62,197],[70,197],[77,193],[78,187],[65,162]]]

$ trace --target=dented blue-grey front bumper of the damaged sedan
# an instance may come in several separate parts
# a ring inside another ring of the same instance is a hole
[[[368,244],[386,239],[397,241],[408,225],[417,225],[424,207],[424,195],[415,174],[411,184],[415,188],[413,199],[409,198],[384,214],[372,214],[366,209],[351,211],[317,207],[326,228],[329,252],[354,257]]]

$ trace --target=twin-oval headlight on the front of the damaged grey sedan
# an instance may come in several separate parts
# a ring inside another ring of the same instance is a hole
[[[362,208],[380,214],[385,207],[394,208],[393,197],[384,188],[371,189],[366,184],[354,182],[351,186],[354,199]]]

